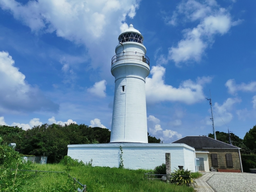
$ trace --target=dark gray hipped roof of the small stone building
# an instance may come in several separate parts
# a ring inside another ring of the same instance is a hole
[[[186,136],[172,143],[184,143],[194,148],[232,148],[238,149],[236,146],[226,144],[224,142],[212,139],[206,136]]]

